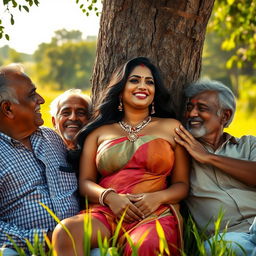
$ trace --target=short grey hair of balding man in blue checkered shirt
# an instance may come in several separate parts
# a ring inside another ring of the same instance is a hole
[[[24,68],[21,64],[12,63],[0,67],[0,103],[5,100],[16,104],[19,103],[17,94],[10,86],[8,86],[8,77],[14,74],[24,74]]]

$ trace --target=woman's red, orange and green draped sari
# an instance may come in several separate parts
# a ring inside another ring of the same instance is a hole
[[[168,141],[156,136],[141,135],[135,142],[129,141],[127,137],[121,137],[106,140],[98,147],[96,165],[101,175],[100,186],[113,188],[121,194],[150,193],[167,188],[167,181],[174,165],[174,152]],[[118,220],[108,207],[91,205],[90,211],[92,216],[98,217],[114,234]],[[104,217],[99,217],[99,214]],[[123,241],[125,231],[136,242],[143,232],[150,230],[148,242],[143,242],[145,246],[139,249],[139,255],[155,255],[150,251],[153,250],[150,247],[159,244],[155,229],[156,220],[163,227],[171,255],[180,255],[181,217],[173,205],[161,205],[142,221],[123,222],[119,242]],[[129,250],[126,248],[124,254],[129,255]]]

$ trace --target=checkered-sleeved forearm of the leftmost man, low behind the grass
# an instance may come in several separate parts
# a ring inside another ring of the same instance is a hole
[[[21,248],[27,248],[26,239],[29,240],[30,243],[34,243],[35,235],[38,234],[39,242],[44,242],[44,234],[47,234],[47,230],[45,229],[21,229],[16,225],[6,223],[0,220],[0,247],[5,244],[12,245],[8,236],[10,236],[14,243]]]

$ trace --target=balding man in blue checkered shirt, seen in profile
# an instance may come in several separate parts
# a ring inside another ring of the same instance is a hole
[[[59,219],[79,211],[66,147],[57,133],[40,127],[43,103],[20,66],[0,68],[0,247],[13,248],[11,237],[27,252],[26,240],[33,243],[36,234],[40,242],[44,235],[51,239],[56,222],[39,202]]]

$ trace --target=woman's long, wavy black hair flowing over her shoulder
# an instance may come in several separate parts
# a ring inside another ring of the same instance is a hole
[[[80,157],[81,149],[84,144],[84,140],[88,134],[94,129],[105,125],[119,122],[123,118],[123,111],[118,111],[119,98],[124,90],[125,84],[130,73],[137,66],[144,65],[150,69],[155,83],[155,96],[154,107],[156,117],[175,117],[174,111],[171,108],[170,95],[168,90],[163,84],[162,78],[156,66],[154,66],[148,58],[137,57],[131,59],[121,65],[112,75],[110,82],[106,89],[103,91],[97,105],[93,111],[92,121],[82,128],[77,135],[77,153],[78,160]],[[151,108],[151,107],[150,107]],[[151,110],[151,109],[150,109]],[[150,111],[149,110],[149,111]]]

